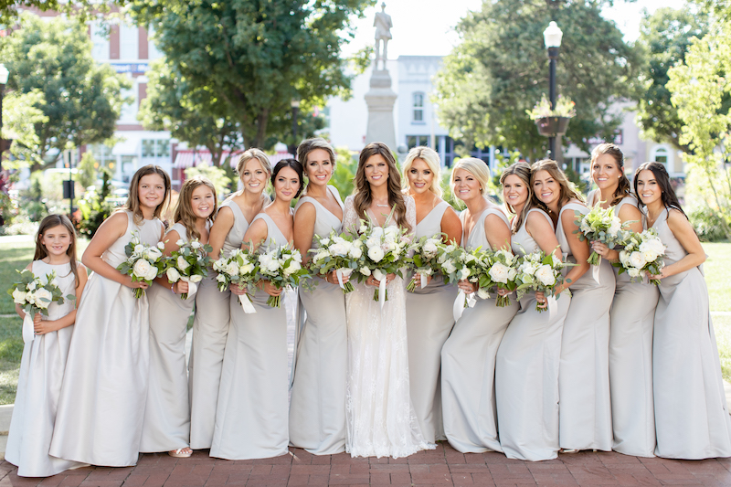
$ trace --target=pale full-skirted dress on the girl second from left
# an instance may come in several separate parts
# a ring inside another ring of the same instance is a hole
[[[101,256],[114,268],[127,259],[124,246],[133,230],[148,245],[155,245],[163,233],[159,219],[137,225],[132,212],[125,213],[126,232]],[[148,297],[136,299],[132,289],[94,272],[74,328],[50,454],[91,465],[134,465],[150,369]]]

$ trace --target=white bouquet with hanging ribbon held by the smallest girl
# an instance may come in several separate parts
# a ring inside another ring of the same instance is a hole
[[[46,275],[46,282],[43,282],[31,270],[18,270],[20,279],[13,283],[13,286],[7,290],[7,293],[13,296],[13,302],[20,304],[20,307],[26,312],[26,318],[23,320],[23,342],[32,342],[36,336],[34,331],[33,315],[37,312],[48,316],[48,305],[51,302],[63,304],[64,300],[76,300],[76,296],[63,293],[58,288],[56,281],[56,271],[51,271]]]

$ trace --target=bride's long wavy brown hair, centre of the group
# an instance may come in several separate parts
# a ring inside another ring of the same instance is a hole
[[[371,195],[371,185],[368,184],[368,180],[365,178],[365,163],[374,155],[382,156],[388,164],[388,206],[393,206],[394,208],[396,223],[399,227],[407,228],[410,231],[412,228],[406,219],[406,200],[401,193],[401,175],[398,174],[396,159],[394,159],[391,150],[388,149],[385,143],[369,143],[360,153],[358,169],[355,171],[355,191],[353,195],[355,212],[358,214],[358,217],[365,220],[368,219],[365,216],[365,211],[368,209],[368,206],[371,206],[373,195]]]

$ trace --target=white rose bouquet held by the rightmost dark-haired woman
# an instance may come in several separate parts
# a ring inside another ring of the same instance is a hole
[[[614,262],[614,267],[619,267],[621,274],[627,272],[632,281],[641,281],[642,271],[657,275],[660,274],[665,262],[662,256],[665,255],[665,245],[657,235],[657,230],[648,228],[641,233],[632,233],[625,242],[624,249],[620,250],[620,261]],[[660,280],[650,280],[656,286]]]

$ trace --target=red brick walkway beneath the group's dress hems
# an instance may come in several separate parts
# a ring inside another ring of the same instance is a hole
[[[345,454],[317,457],[300,449],[291,455],[255,461],[211,459],[196,451],[189,459],[143,455],[136,467],[86,468],[48,479],[22,479],[0,464],[0,486],[303,486],[303,485],[729,485],[731,459],[673,461],[619,453],[577,453],[558,460],[508,460],[501,453],[463,455],[441,443],[407,459],[351,459]]]

